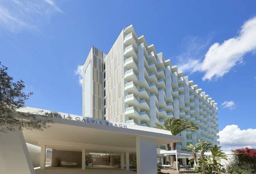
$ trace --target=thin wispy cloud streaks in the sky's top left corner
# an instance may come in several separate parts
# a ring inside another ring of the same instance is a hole
[[[0,1],[0,27],[19,32],[23,29],[35,30],[38,25],[54,12],[62,12],[52,0],[2,0]]]

